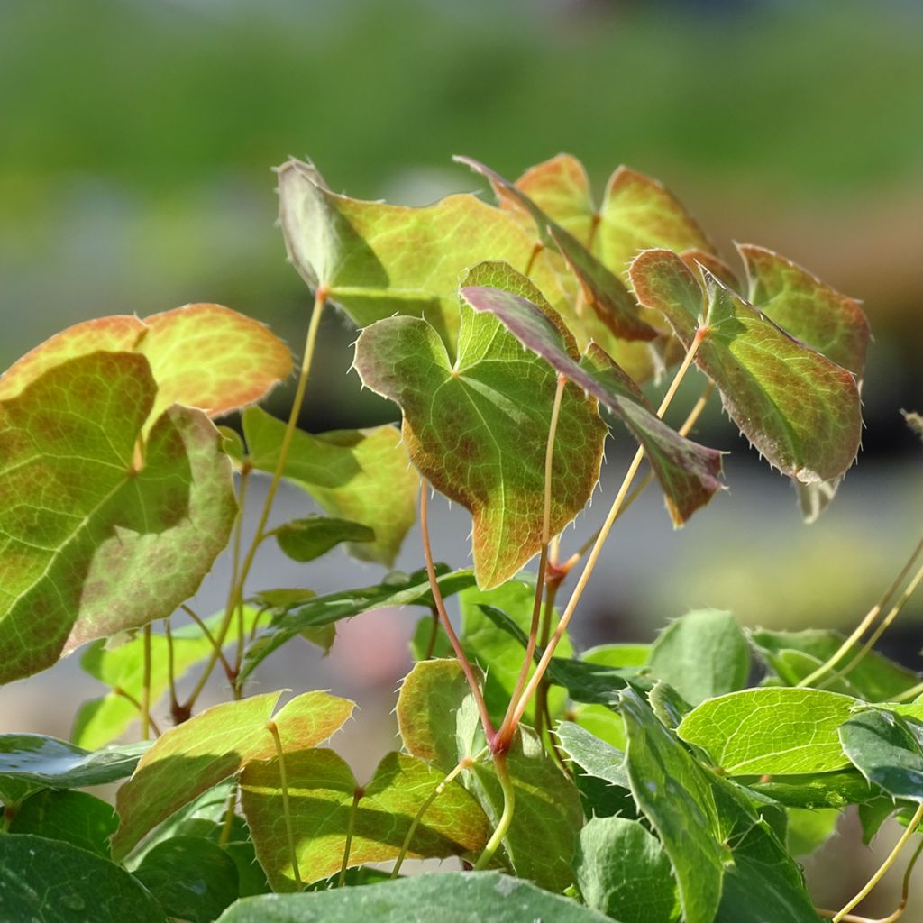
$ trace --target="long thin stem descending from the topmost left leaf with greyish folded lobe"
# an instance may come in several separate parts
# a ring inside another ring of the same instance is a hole
[[[311,312],[311,320],[307,326],[305,356],[302,359],[301,371],[298,375],[298,384],[295,387],[294,399],[292,401],[292,411],[289,414],[288,424],[285,426],[285,433],[282,436],[282,444],[279,447],[279,458],[276,461],[275,470],[272,472],[272,480],[270,481],[269,490],[266,493],[266,501],[263,504],[263,510],[259,515],[257,531],[254,533],[253,541],[250,543],[250,547],[247,550],[244,563],[241,565],[239,573],[234,574],[231,581],[231,586],[228,591],[227,605],[224,608],[224,619],[222,621],[221,628],[218,629],[217,637],[219,648],[223,646],[224,639],[227,637],[228,630],[231,628],[231,622],[234,618],[234,610],[244,598],[246,578],[250,572],[250,568],[253,566],[253,559],[257,555],[259,544],[265,537],[264,530],[266,529],[266,523],[270,519],[272,503],[276,498],[276,492],[279,489],[279,483],[282,481],[282,472],[285,470],[285,462],[288,460],[288,453],[292,446],[292,439],[294,438],[294,431],[297,428],[298,417],[301,414],[302,404],[305,402],[307,379],[311,374],[311,364],[314,360],[315,347],[317,346],[318,342],[320,318],[323,314],[324,306],[327,304],[328,294],[329,290],[326,285],[318,286],[318,290],[314,296],[314,310]],[[242,515],[242,513],[239,512],[238,515]],[[218,654],[213,651],[208,663],[205,665],[205,669],[203,670],[202,675],[198,677],[198,683],[196,683],[195,688],[192,690],[192,693],[186,701],[186,710],[191,710],[193,704],[198,699],[198,696],[201,695],[202,689],[205,689],[205,684],[209,681],[211,672],[214,670],[217,663]]]

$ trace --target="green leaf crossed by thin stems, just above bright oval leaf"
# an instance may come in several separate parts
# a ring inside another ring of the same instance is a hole
[[[797,686],[840,649],[845,636],[839,631],[823,629],[757,629],[749,632],[749,641],[777,677],[788,686]],[[852,657],[847,657],[838,669],[851,663]],[[833,670],[821,677],[819,685],[865,701],[892,701],[918,682],[916,673],[877,651],[869,651],[845,677]]]

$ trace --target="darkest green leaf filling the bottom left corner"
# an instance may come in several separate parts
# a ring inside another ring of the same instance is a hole
[[[34,923],[165,923],[125,869],[86,849],[24,833],[0,836],[0,918]]]

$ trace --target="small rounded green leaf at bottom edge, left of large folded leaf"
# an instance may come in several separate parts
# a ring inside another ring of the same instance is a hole
[[[677,893],[664,847],[638,821],[596,817],[574,860],[587,906],[621,923],[672,923]]]

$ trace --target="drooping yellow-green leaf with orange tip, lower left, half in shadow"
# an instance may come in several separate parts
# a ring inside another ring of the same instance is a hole
[[[270,692],[215,705],[158,737],[118,790],[122,822],[113,837],[113,857],[125,857],[145,833],[247,762],[274,756],[267,722],[279,696]],[[295,696],[273,718],[282,748],[316,746],[339,730],[353,709],[353,702],[326,692]]]

